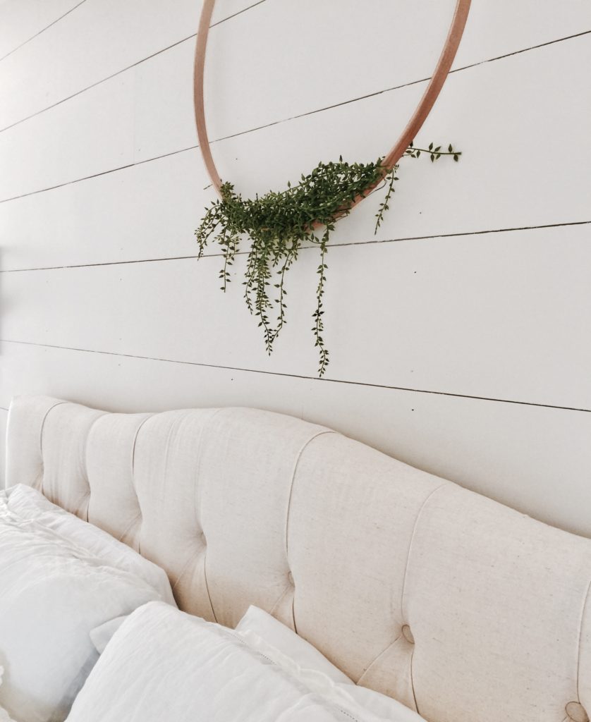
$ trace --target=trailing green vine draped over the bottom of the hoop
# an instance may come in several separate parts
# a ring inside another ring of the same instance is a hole
[[[441,146],[429,144],[428,148],[415,148],[411,143],[403,157],[418,158],[421,154],[439,160],[449,155],[459,160],[460,151],[449,145],[447,151]],[[242,235],[249,235],[250,250],[246,259],[243,281],[244,299],[252,315],[259,318],[265,348],[271,354],[273,344],[287,323],[285,311],[285,275],[298,258],[304,243],[319,247],[320,263],[316,269],[316,309],[312,314],[314,346],[319,352],[319,376],[324,375],[329,363],[329,351],[324,344],[324,290],[328,269],[326,256],[330,234],[335,230],[335,219],[347,216],[353,201],[364,195],[368,188],[383,181],[376,190],[386,188],[384,200],[376,213],[377,232],[389,210],[389,201],[398,180],[398,165],[387,170],[379,158],[370,163],[338,162],[319,163],[309,175],[302,175],[294,186],[288,183],[285,191],[269,191],[264,196],[243,199],[236,193],[232,183],[223,183],[221,198],[205,209],[205,215],[195,231],[202,257],[209,240],[213,237],[223,253],[220,271],[221,290],[230,282],[232,266]],[[373,192],[373,191],[372,191]],[[322,230],[318,227],[322,226]],[[274,318],[271,318],[271,317]]]

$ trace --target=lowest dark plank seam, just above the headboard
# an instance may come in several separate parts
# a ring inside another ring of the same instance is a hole
[[[431,391],[426,388],[408,388],[407,386],[389,386],[384,383],[369,383],[366,381],[351,381],[351,380],[345,380],[340,378],[318,378],[317,376],[306,376],[303,374],[298,373],[282,373],[280,371],[264,371],[262,369],[256,369],[256,368],[245,368],[240,366],[224,366],[224,365],[217,365],[217,364],[209,364],[209,363],[203,363],[203,362],[197,362],[197,361],[181,361],[178,359],[165,359],[160,357],[152,357],[152,356],[140,356],[140,355],[134,355],[134,354],[124,354],[120,352],[115,351],[100,351],[98,349],[82,349],[77,347],[71,347],[71,346],[58,346],[56,344],[40,344],[37,342],[32,341],[17,341],[15,339],[0,339],[1,343],[7,343],[7,344],[20,344],[22,346],[34,346],[34,347],[40,347],[40,348],[47,348],[47,349],[60,349],[62,351],[77,351],[82,353],[90,353],[90,354],[100,354],[104,356],[116,356],[119,358],[131,358],[131,359],[139,359],[144,361],[158,361],[158,362],[165,362],[165,363],[176,363],[186,366],[198,366],[198,367],[204,367],[204,368],[219,368],[221,370],[226,371],[241,371],[245,373],[259,373],[259,374],[266,374],[270,376],[282,376],[284,378],[301,378],[303,380],[309,380],[309,381],[319,381],[319,382],[326,382],[326,383],[344,383],[348,384],[349,386],[364,386],[366,388],[384,388],[389,391],[410,391],[413,393],[428,393],[433,396],[451,396],[456,399],[475,399],[476,401],[496,401],[501,404],[517,404],[519,406],[537,406],[543,409],[559,409],[561,411],[577,411],[577,412],[584,412],[584,413],[591,413],[591,409],[582,409],[577,408],[576,406],[558,406],[557,404],[539,404],[535,403],[534,401],[515,401],[514,399],[496,399],[492,396],[473,396],[468,393],[452,393],[451,391]]]

